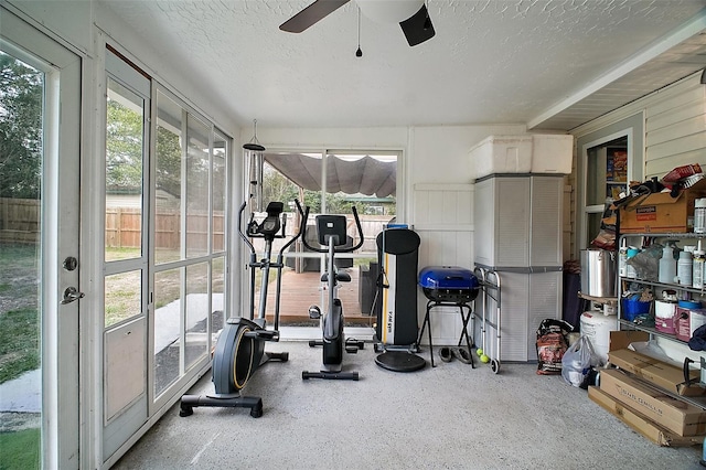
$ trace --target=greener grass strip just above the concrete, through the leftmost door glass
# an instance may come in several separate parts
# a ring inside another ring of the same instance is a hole
[[[0,384],[39,367],[40,328],[36,309],[23,308],[0,316]]]

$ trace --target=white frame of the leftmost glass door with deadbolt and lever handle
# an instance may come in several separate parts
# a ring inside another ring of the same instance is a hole
[[[42,467],[78,468],[81,301],[65,305],[61,301],[67,287],[82,291],[79,268],[62,267],[66,257],[79,258],[82,57],[2,6],[0,44],[13,56],[45,73],[41,221]]]

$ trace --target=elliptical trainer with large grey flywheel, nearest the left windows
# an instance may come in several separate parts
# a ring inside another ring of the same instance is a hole
[[[299,201],[295,201],[299,214],[303,215]],[[270,202],[267,205],[267,216],[263,222],[255,220],[255,214],[250,215],[247,224],[247,233],[243,232],[243,212],[247,203],[243,203],[238,214],[238,233],[250,249],[250,301],[249,319],[243,317],[229,318],[216,342],[213,354],[212,377],[215,393],[212,395],[184,395],[181,397],[181,409],[179,416],[190,416],[194,406],[213,407],[237,407],[250,408],[250,416],[259,418],[263,416],[263,399],[257,396],[242,396],[240,389],[245,387],[247,381],[255,373],[257,367],[270,360],[287,362],[289,353],[265,352],[265,343],[268,341],[279,341],[279,297],[281,290],[282,260],[285,250],[299,237],[292,236],[280,249],[277,261],[270,260],[272,254],[272,242],[275,238],[285,238],[287,217],[284,214],[281,202]],[[248,239],[265,239],[265,257],[257,260],[257,254],[253,243]],[[275,295],[275,324],[272,330],[267,329],[265,311],[267,308],[267,287],[269,284],[270,268],[277,269],[277,290]],[[258,317],[255,318],[255,270],[261,271],[260,300]]]

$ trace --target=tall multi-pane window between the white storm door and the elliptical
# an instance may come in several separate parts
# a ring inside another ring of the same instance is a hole
[[[223,324],[231,140],[163,89],[154,154],[154,396],[207,361]]]

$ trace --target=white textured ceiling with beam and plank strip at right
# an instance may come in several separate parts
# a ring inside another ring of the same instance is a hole
[[[706,0],[429,0],[434,39],[363,17],[360,58],[354,1],[300,34],[306,0],[100,1],[248,126],[570,129],[706,66]]]

